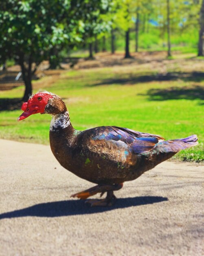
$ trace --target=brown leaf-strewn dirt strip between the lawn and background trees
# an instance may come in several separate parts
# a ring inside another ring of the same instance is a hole
[[[93,59],[65,58],[61,63],[62,69],[58,70],[49,70],[48,61],[43,61],[37,68],[35,76],[33,76],[33,80],[37,80],[33,83],[33,88],[35,90],[46,88],[50,84],[55,83],[59,79],[59,76],[72,69],[81,70],[104,67],[116,67],[118,69],[118,67],[122,67],[124,71],[129,70],[130,66],[134,66],[136,70],[140,70],[141,72],[148,70],[149,72],[156,72],[162,76],[176,73],[177,79],[180,76],[192,76],[193,72],[196,72],[197,76],[201,73],[200,75],[203,77],[203,60],[196,58],[196,54],[181,54],[175,51],[173,52],[173,56],[175,58],[167,59],[167,52],[160,51],[132,53],[132,58],[124,58],[124,53],[122,52],[116,52],[115,54],[100,52],[95,54]],[[8,67],[7,71],[1,71],[0,90],[11,90],[12,88],[23,85],[22,76],[20,76],[19,81],[15,81],[19,72],[19,65]],[[45,76],[48,77],[46,81],[44,79],[38,80]]]

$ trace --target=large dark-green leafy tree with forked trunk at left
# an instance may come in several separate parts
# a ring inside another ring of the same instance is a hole
[[[32,94],[31,79],[39,63],[49,59],[50,53],[57,57],[63,47],[82,41],[91,14],[99,16],[108,4],[108,0],[1,1],[0,62],[14,58],[20,65],[24,101]],[[94,25],[100,27],[97,22]]]

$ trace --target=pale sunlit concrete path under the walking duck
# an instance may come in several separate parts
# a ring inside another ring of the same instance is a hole
[[[70,198],[92,185],[49,146],[0,140],[0,256],[204,255],[204,166],[164,162],[110,208]]]

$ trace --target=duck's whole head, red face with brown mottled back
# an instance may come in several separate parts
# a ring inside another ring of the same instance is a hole
[[[60,108],[61,105],[63,107]],[[64,107],[64,102],[57,95],[51,92],[38,92],[33,94],[27,102],[23,103],[21,109],[24,112],[20,115],[18,121],[37,113],[57,114]]]

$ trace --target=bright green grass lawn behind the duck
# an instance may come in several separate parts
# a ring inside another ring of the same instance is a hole
[[[152,71],[143,70],[143,75],[151,74]],[[203,88],[200,93],[203,93],[204,80],[196,84],[181,79],[138,82],[136,78],[140,75],[141,71],[134,65],[74,70],[61,74],[57,82],[44,89],[64,99],[72,125],[79,130],[115,125],[158,134],[166,139],[197,134],[200,144],[183,150],[177,158],[203,161],[204,105],[199,92],[196,94],[197,91],[192,90],[200,86]],[[35,82],[33,84],[35,88]],[[179,97],[169,88],[178,90]],[[157,89],[156,95],[152,94],[153,89]],[[168,89],[168,95],[164,89]],[[22,97],[23,90],[19,87],[2,91],[0,98]],[[48,144],[51,117],[33,115],[18,122],[21,113],[21,110],[0,112],[0,137]]]

